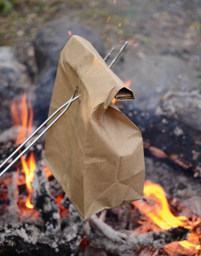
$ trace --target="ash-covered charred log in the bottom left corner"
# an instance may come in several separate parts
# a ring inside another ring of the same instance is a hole
[[[42,227],[28,223],[0,225],[1,256],[63,256],[76,255],[82,239],[83,220],[71,205],[71,213],[57,231],[45,232]]]

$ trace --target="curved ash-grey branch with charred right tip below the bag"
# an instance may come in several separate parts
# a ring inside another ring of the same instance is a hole
[[[142,245],[151,245],[154,248],[162,248],[173,241],[187,239],[189,229],[177,227],[162,231],[152,231],[144,234],[136,234],[133,231],[115,231],[96,215],[84,223],[84,231],[90,240],[90,246],[105,249],[121,255],[122,252],[139,248]]]

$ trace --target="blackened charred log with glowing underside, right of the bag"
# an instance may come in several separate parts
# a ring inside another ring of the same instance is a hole
[[[145,155],[175,163],[193,172],[194,177],[201,177],[200,131],[184,124],[178,116],[130,111],[129,106],[122,107],[122,112],[142,132]]]

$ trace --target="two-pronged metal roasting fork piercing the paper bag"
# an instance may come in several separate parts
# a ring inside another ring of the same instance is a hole
[[[125,47],[126,47],[127,44],[128,44],[128,41],[125,42],[125,44],[122,46],[122,48],[120,49],[120,51],[118,52],[118,54],[115,56],[115,58],[113,59],[113,61],[110,63],[109,68],[112,67],[112,65],[113,65],[113,64],[115,63],[115,61],[118,59],[118,57],[120,56],[120,54],[122,53],[122,51],[125,49]],[[109,53],[107,53],[107,55],[106,55],[105,58],[103,59],[104,61],[107,60],[107,58],[110,56],[110,54],[113,52],[113,50],[114,50],[114,47],[110,50]],[[26,139],[26,140],[24,140],[24,142],[23,142],[22,144],[20,144],[20,146],[19,146],[18,148],[16,148],[16,150],[15,150],[7,159],[5,159],[5,161],[4,161],[3,163],[1,163],[0,169],[1,169],[1,167],[3,167],[3,166],[5,165],[5,163],[7,163],[16,153],[18,153],[18,151],[19,151],[31,138],[33,138],[33,136],[34,136],[46,123],[48,123],[48,121],[49,121],[50,119],[52,119],[61,109],[63,109],[64,107],[66,107],[66,108],[52,121],[52,123],[50,123],[50,124],[48,125],[48,127],[46,127],[46,129],[45,129],[43,132],[41,132],[41,133],[37,136],[37,138],[35,138],[35,139],[33,140],[33,142],[31,142],[31,143],[29,144],[29,146],[27,146],[13,161],[0,173],[0,177],[1,177],[12,165],[14,165],[14,163],[16,163],[16,162],[18,161],[18,159],[19,159],[20,157],[22,157],[22,155],[23,155],[24,153],[26,153],[27,150],[29,150],[29,148],[30,148],[31,146],[33,146],[33,144],[35,144],[35,142],[37,142],[37,140],[40,139],[41,136],[42,136],[46,131],[48,131],[48,129],[49,129],[50,127],[52,127],[52,125],[53,125],[54,123],[56,123],[56,121],[68,110],[68,108],[70,107],[71,103],[72,103],[73,101],[75,101],[76,99],[79,98],[80,95],[78,95],[78,96],[75,97],[75,95],[76,95],[76,93],[77,93],[77,90],[78,90],[78,88],[76,88],[76,90],[74,91],[74,93],[73,93],[71,99],[69,99],[69,101],[65,102],[62,106],[60,106],[60,108],[58,108],[50,117],[48,117],[48,119],[46,119],[46,120],[45,120],[45,121],[44,121],[27,139]]]

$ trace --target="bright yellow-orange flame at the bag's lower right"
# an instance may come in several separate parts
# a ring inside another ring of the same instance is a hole
[[[158,184],[146,181],[144,184],[144,196],[147,199],[151,199],[154,205],[151,206],[143,200],[132,202],[132,204],[162,229],[170,229],[171,227],[178,226],[191,229],[191,233],[188,234],[188,241],[184,240],[178,243],[187,249],[200,249],[200,245],[195,244],[195,242],[201,236],[193,231],[193,227],[199,224],[200,221],[191,222],[186,216],[174,216],[170,211],[165,192]]]

